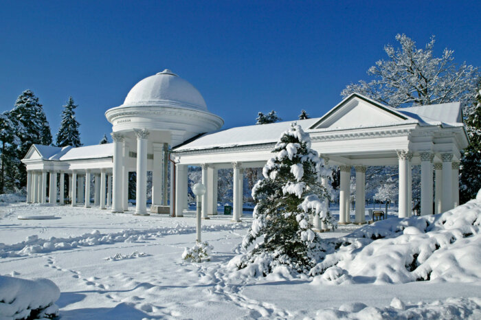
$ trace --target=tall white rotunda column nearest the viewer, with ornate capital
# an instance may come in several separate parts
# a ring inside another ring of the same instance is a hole
[[[147,139],[148,130],[135,129],[137,135],[137,188],[135,190],[135,214],[147,214]]]

